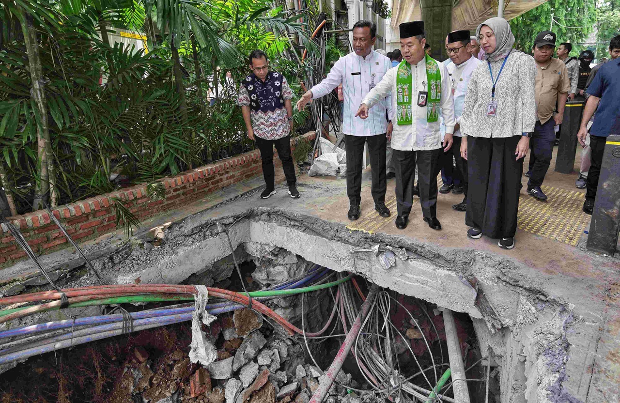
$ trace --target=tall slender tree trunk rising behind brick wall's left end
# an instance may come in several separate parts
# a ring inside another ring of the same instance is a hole
[[[47,98],[45,97],[45,79],[43,78],[43,68],[38,51],[37,29],[34,25],[32,15],[26,14],[24,11],[18,11],[18,17],[24,32],[24,42],[28,54],[28,64],[30,68],[30,78],[32,80],[32,88],[30,95],[35,100],[39,122],[37,122],[37,154],[39,159],[39,176],[37,190],[33,200],[33,210],[43,208],[43,200],[50,190],[51,204],[56,203],[56,189],[54,188],[53,179],[55,174],[54,161],[51,153],[50,127],[48,125]]]

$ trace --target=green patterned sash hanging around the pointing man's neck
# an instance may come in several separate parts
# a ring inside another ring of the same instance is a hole
[[[437,122],[439,118],[439,102],[441,99],[441,73],[439,65],[433,58],[425,55],[427,71],[427,122]],[[403,60],[396,73],[396,112],[399,125],[411,125],[413,112],[411,100],[413,94],[413,75],[411,64]]]

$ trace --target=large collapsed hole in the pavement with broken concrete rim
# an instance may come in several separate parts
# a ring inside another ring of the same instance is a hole
[[[192,322],[193,294],[167,291],[4,322],[0,335],[38,330],[0,338],[0,360],[14,357],[1,361],[0,401],[542,402],[542,387],[561,387],[561,365],[544,373],[536,363],[541,348],[562,356],[567,346],[561,335],[544,345],[532,332],[566,330],[566,317],[544,312],[554,301],[536,290],[489,281],[502,262],[472,264],[471,252],[441,254],[285,211],[208,214],[102,242],[92,264],[108,284],[247,291],[249,308],[210,291],[205,309],[215,317]],[[97,283],[85,266],[65,265],[58,285]],[[30,285],[22,295],[47,289]],[[127,319],[159,311],[185,316],[151,327]],[[81,321],[105,315],[122,317],[122,332],[87,339],[97,322]],[[41,331],[59,321],[71,326]]]

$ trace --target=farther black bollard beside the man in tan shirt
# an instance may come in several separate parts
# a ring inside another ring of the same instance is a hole
[[[577,153],[577,132],[583,112],[585,100],[572,100],[566,102],[564,108],[564,120],[560,129],[560,145],[557,147],[555,171],[560,174],[572,174],[575,166],[575,153]]]

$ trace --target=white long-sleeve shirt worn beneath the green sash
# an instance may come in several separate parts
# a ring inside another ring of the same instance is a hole
[[[446,133],[453,133],[456,120],[454,119],[454,102],[452,100],[452,82],[448,76],[448,69],[443,63],[438,63],[441,74],[441,97],[439,106],[441,116],[446,123]],[[394,130],[392,131],[392,148],[401,151],[428,151],[441,148],[441,133],[439,130],[439,119],[437,122],[428,122],[427,107],[418,107],[418,92],[428,91],[426,62],[420,60],[415,66],[411,66],[413,73],[411,108],[414,113],[414,122],[411,125],[399,125],[397,120],[392,120]],[[398,68],[393,68],[386,73],[383,80],[373,88],[362,104],[368,105],[368,115],[373,106],[379,100],[391,92],[396,93],[396,75]],[[396,110],[396,97],[392,97],[392,108]]]

